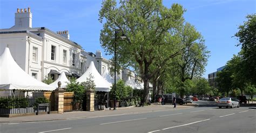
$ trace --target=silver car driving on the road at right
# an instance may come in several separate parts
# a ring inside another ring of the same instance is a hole
[[[239,101],[235,98],[221,98],[219,101],[218,101],[218,104],[219,108],[221,107],[231,107],[231,108],[234,108],[234,107],[238,107],[239,108]]]

